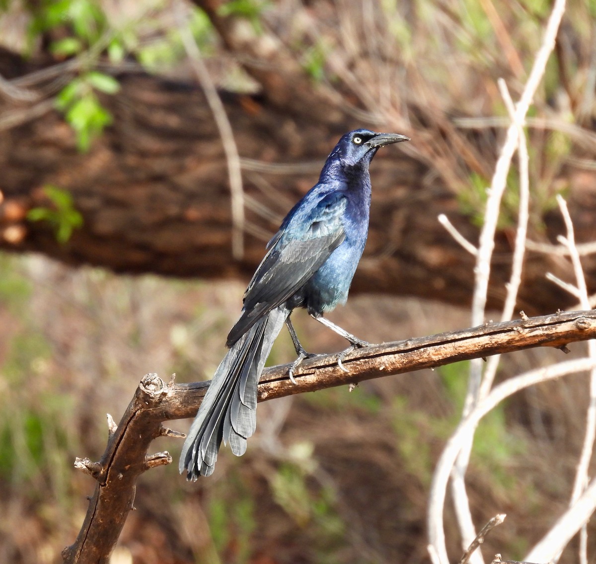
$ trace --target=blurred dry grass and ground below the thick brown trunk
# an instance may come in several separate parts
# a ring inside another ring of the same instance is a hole
[[[243,286],[114,277],[39,257],[5,257],[2,271],[0,562],[55,562],[92,489],[74,457],[101,454],[105,413],[119,417],[142,374],[210,377]],[[343,346],[297,317],[312,350]],[[362,296],[333,318],[381,341],[465,326],[467,312]],[[281,337],[274,361],[292,354]],[[560,355],[511,355],[499,377]],[[425,560],[430,476],[457,422],[465,372],[455,365],[260,405],[249,453],[224,450],[213,478],[186,484],[174,467],[144,476],[115,561]],[[479,430],[469,474],[474,516],[509,515],[489,553],[521,557],[563,509],[585,403],[579,379],[550,383]],[[159,439],[156,450],[176,455],[172,441]]]

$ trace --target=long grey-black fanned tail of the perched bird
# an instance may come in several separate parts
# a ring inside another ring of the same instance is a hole
[[[235,455],[246,452],[246,439],[256,429],[259,377],[289,313],[285,306],[270,311],[221,361],[182,447],[178,467],[188,480],[213,473],[222,439]]]

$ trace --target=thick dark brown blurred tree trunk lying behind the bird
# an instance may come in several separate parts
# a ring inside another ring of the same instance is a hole
[[[0,52],[5,78],[29,70]],[[243,166],[245,251],[235,260],[225,154],[200,88],[142,73],[119,80],[119,94],[103,99],[114,123],[87,154],[76,151],[72,130],[51,106],[4,100],[0,123],[14,119],[0,131],[1,249],[42,252],[115,272],[249,278],[266,240],[315,184],[337,138],[362,125],[337,109],[328,114],[333,119],[318,120],[312,116],[325,114],[324,107],[313,108],[311,116],[294,106],[284,111],[279,100],[222,92]],[[321,100],[315,102],[325,104]],[[308,110],[307,102],[302,100]],[[478,229],[457,196],[432,169],[396,147],[380,151],[371,176],[370,234],[353,291],[467,304],[474,258],[437,222],[445,213],[468,240],[477,240]],[[592,240],[594,175],[570,173],[567,181],[578,241]],[[42,190],[46,184],[69,191],[83,216],[82,227],[65,244],[57,242],[51,225],[26,219],[32,207],[51,207]],[[554,241],[563,231],[560,220],[555,213],[542,219],[545,232],[534,237]],[[489,307],[498,307],[505,295],[512,238],[508,230],[496,238]],[[585,269],[594,292],[596,262],[586,260]],[[545,280],[547,271],[566,279],[569,263],[561,256],[527,254],[519,308],[528,314],[573,305],[573,298]]]

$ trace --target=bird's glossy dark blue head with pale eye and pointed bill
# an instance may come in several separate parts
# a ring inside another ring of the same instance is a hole
[[[375,133],[370,129],[355,129],[343,135],[328,158],[344,167],[368,166],[380,147],[409,141],[409,137],[396,133]]]

